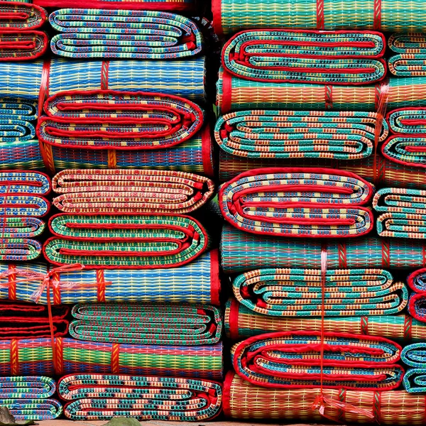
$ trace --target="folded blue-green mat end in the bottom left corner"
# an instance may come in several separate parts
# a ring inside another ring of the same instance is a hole
[[[44,376],[0,377],[0,405],[15,420],[53,420],[62,414],[53,378]]]

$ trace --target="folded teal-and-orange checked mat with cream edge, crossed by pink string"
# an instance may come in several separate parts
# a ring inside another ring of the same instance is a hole
[[[254,312],[277,317],[322,315],[320,269],[258,269],[232,283],[236,300]],[[383,269],[329,269],[324,291],[324,315],[354,317],[393,315],[408,302],[404,283],[393,282]]]

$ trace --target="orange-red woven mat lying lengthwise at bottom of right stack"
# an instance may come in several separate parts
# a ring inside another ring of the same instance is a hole
[[[271,389],[255,386],[230,371],[224,383],[224,413],[234,419],[324,422],[319,410],[312,408],[320,388]],[[346,391],[324,389],[325,415],[339,424],[369,423],[386,426],[425,424],[425,395],[405,391]],[[339,403],[343,404],[339,405]],[[353,405],[361,413],[344,409]],[[368,415],[368,413],[371,413]]]

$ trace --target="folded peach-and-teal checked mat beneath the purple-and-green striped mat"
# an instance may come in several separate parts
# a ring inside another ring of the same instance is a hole
[[[200,422],[222,409],[219,383],[190,378],[87,374],[62,377],[60,396],[71,400],[65,415],[72,420],[138,420]]]

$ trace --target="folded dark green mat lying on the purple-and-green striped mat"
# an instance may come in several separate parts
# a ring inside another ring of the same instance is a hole
[[[217,307],[172,304],[75,305],[70,335],[87,342],[215,344],[222,337]]]

